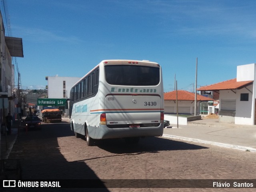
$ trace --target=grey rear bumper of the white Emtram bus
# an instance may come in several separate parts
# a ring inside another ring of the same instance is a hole
[[[94,131],[95,129],[97,129],[97,131]],[[162,136],[164,124],[160,123],[158,127],[140,128],[108,128],[106,125],[100,125],[98,128],[88,127],[88,130],[90,137],[94,139]],[[96,132],[97,134],[94,134]]]

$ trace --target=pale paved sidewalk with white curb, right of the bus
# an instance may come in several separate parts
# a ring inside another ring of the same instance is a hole
[[[163,137],[212,144],[256,152],[256,126],[218,122],[218,119],[202,119],[188,125],[170,125],[164,128]]]

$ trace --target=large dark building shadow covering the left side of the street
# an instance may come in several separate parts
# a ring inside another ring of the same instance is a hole
[[[22,180],[98,180],[94,171],[85,162],[68,162],[60,153],[57,138],[73,135],[70,125],[67,123],[42,124],[42,130],[21,131],[9,158],[20,159]],[[101,185],[104,186],[104,183]],[[15,189],[15,191],[19,190],[22,191],[21,188]],[[48,190],[43,189],[43,191]],[[56,190],[60,189],[54,188],[50,191]],[[42,191],[42,188],[26,188],[25,191]],[[74,191],[74,189],[65,188],[64,191]],[[76,189],[76,191],[84,191],[84,189]],[[109,190],[107,188],[90,188],[87,191],[108,192]]]

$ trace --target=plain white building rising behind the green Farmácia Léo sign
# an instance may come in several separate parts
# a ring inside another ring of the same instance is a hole
[[[80,80],[80,77],[46,77],[48,81],[48,98],[69,98],[72,86]]]

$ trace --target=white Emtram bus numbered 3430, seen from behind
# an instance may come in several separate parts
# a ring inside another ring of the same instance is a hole
[[[103,60],[70,91],[70,126],[76,137],[95,139],[162,136],[164,93],[159,64]]]

